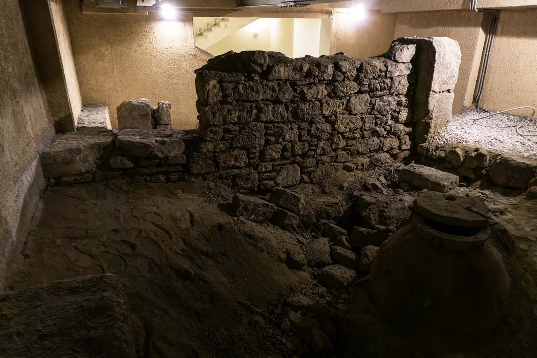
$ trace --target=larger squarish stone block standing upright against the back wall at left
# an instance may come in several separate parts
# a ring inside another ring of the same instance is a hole
[[[149,99],[124,101],[118,106],[117,115],[119,130],[153,128]]]

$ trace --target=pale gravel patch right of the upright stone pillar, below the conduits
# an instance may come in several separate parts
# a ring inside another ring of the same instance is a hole
[[[527,120],[527,116],[498,114],[474,122],[494,112],[466,111],[454,115],[447,128],[432,137],[432,141],[441,145],[462,143],[476,147],[495,150],[508,154],[517,154],[537,158],[537,137],[523,137],[516,128]],[[533,118],[523,128],[523,134],[537,134],[537,118]]]

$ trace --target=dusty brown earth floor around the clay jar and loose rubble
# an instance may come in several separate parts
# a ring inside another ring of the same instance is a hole
[[[408,195],[394,194],[394,171],[378,162],[376,172],[372,164],[371,171],[293,188],[306,198],[301,224],[308,233],[229,216],[222,209],[232,193],[211,182],[111,180],[52,187],[9,289],[86,274],[118,275],[144,357],[537,356],[537,200],[519,192],[485,182],[455,191],[487,200],[492,242],[511,275],[510,315],[486,337],[388,326],[368,302],[367,277],[347,289],[327,290],[314,281],[316,269],[295,271],[281,262],[286,249],[302,250],[320,235],[321,218],[350,229],[359,220],[352,192],[365,179],[382,174],[390,198]],[[290,297],[309,300],[300,315],[322,327],[331,353],[313,355],[293,338],[297,333],[289,330],[284,302]]]

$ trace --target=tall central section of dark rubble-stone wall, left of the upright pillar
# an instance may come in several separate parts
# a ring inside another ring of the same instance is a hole
[[[394,43],[369,59],[255,51],[209,60],[196,71],[201,140],[190,173],[271,189],[352,171],[375,152],[400,162],[411,148],[414,53]]]

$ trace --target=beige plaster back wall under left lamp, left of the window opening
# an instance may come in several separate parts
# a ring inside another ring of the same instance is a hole
[[[165,21],[151,14],[82,14],[78,0],[65,0],[76,71],[84,104],[115,108],[127,99],[172,104],[173,128],[195,128],[193,71],[206,60],[194,48],[192,13]]]

